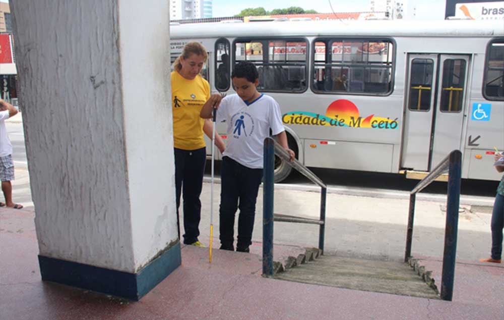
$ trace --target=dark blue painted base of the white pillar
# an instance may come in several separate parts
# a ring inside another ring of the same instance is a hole
[[[38,256],[38,262],[43,281],[138,301],[178,268],[181,263],[180,242],[177,241],[135,274],[42,255]]]

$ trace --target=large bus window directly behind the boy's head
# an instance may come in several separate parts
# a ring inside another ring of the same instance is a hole
[[[238,39],[235,62],[253,62],[259,72],[259,91],[302,92],[307,88],[305,39]]]

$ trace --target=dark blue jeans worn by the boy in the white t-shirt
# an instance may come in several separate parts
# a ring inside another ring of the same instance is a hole
[[[223,249],[234,249],[234,217],[237,208],[240,209],[240,214],[236,248],[246,249],[252,244],[256,200],[262,179],[263,169],[250,169],[228,156],[223,157],[219,216],[220,241]]]

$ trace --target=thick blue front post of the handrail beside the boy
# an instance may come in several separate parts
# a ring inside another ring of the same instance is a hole
[[[263,276],[273,276],[273,191],[275,188],[275,141],[264,140]]]

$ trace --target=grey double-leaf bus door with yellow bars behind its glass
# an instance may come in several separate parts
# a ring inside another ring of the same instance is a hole
[[[401,167],[430,171],[460,149],[469,56],[409,55]]]

